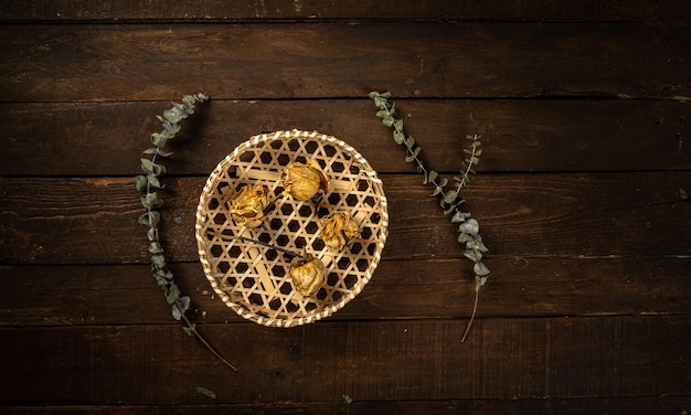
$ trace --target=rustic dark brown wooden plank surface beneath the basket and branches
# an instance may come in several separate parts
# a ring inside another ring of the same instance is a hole
[[[690,22],[681,0],[3,1],[0,412],[685,414]],[[372,89],[436,170],[483,136],[465,198],[493,273],[465,343],[470,264]],[[136,224],[156,115],[199,91],[161,232],[238,372],[172,319]],[[355,300],[281,330],[213,295],[193,223],[221,158],[291,128],[353,145],[391,227]]]

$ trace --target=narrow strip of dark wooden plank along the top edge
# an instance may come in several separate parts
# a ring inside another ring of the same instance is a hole
[[[248,3],[205,0],[173,3],[163,0],[123,0],[108,4],[94,0],[6,0],[6,21],[204,21],[247,20],[502,20],[502,21],[646,21],[691,20],[683,1],[362,1],[262,0]]]

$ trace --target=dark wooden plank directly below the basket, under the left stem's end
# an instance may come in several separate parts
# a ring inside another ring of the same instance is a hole
[[[691,394],[690,316],[0,329],[0,403],[217,403]],[[136,375],[134,375],[136,374]]]

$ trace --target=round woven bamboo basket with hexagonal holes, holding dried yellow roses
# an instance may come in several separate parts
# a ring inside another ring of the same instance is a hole
[[[309,160],[319,162],[329,189],[317,202],[284,196],[285,167]],[[238,226],[230,201],[257,184],[269,189],[274,208],[259,227]],[[351,213],[360,237],[333,251],[319,236],[320,219],[339,210]],[[383,185],[368,161],[334,137],[293,130],[254,136],[216,166],[200,196],[195,236],[204,274],[225,305],[256,323],[291,327],[329,317],[360,294],[381,259],[387,226]],[[288,275],[293,258],[246,238],[296,253],[305,248],[326,265],[326,283],[304,297]]]

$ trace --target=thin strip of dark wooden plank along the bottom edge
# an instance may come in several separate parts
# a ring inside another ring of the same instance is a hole
[[[226,415],[226,414],[449,414],[520,415],[520,414],[683,414],[689,407],[689,396],[626,396],[589,398],[540,400],[445,400],[445,401],[353,401],[350,405],[338,402],[286,402],[199,405],[63,405],[63,406],[6,406],[4,414],[70,414],[70,415]]]

